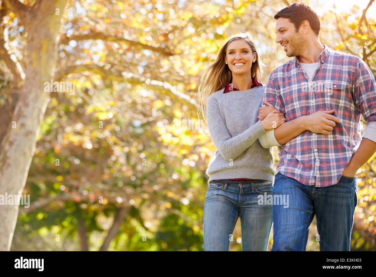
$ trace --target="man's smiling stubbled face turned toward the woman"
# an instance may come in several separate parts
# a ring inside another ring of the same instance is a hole
[[[296,57],[303,52],[305,37],[288,18],[279,17],[276,23],[276,43],[280,43],[287,57]]]

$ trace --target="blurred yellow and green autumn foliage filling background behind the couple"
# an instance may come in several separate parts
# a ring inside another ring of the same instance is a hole
[[[205,171],[215,147],[197,118],[200,75],[228,37],[248,31],[268,63],[265,84],[290,60],[274,41],[273,16],[291,3],[67,1],[53,81],[74,82],[76,93],[49,95],[23,189],[31,205],[20,206],[11,250],[202,251]],[[376,74],[376,4],[305,3],[320,14],[321,43],[358,55]],[[3,19],[21,60],[23,23],[11,7]],[[12,72],[1,51],[0,58],[5,109]],[[179,129],[180,119],[199,128]],[[352,250],[376,250],[375,171],[373,157],[358,173]],[[230,250],[240,251],[240,222],[233,237]],[[272,243],[271,236],[269,250]],[[318,249],[314,220],[307,250]]]

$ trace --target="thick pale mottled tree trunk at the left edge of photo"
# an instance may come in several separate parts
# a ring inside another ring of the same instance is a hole
[[[0,145],[0,194],[4,196],[22,194],[26,183],[49,102],[50,92],[44,91],[44,82],[50,81],[55,71],[60,21],[66,3],[67,0],[40,0],[24,18],[19,18],[28,33],[23,53],[25,81],[9,124],[0,127],[7,129],[0,131],[5,134]],[[11,247],[18,205],[0,206],[0,251],[9,251]]]

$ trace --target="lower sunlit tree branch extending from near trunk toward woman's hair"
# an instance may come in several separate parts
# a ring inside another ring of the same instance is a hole
[[[191,106],[191,108],[197,109],[199,107],[196,100],[186,95],[185,93],[180,92],[166,81],[162,82],[157,80],[150,80],[149,78],[134,73],[112,72],[111,70],[105,69],[104,66],[99,66],[97,64],[77,64],[74,66],[65,67],[64,69],[60,69],[55,73],[54,80],[59,81],[62,80],[64,76],[70,73],[79,73],[84,71],[91,71],[93,73],[100,74],[103,80],[113,80],[131,84],[146,84],[148,89],[162,90],[172,98],[185,100]]]

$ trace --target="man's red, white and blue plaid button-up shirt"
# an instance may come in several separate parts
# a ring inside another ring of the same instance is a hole
[[[295,57],[274,69],[263,101],[285,114],[286,121],[320,110],[334,110],[331,135],[306,130],[282,145],[277,171],[305,185],[337,184],[361,142],[360,117],[376,121],[376,87],[371,70],[360,58],[331,51],[323,44],[312,80]],[[265,104],[262,104],[265,106]],[[370,138],[376,142],[376,138]]]

